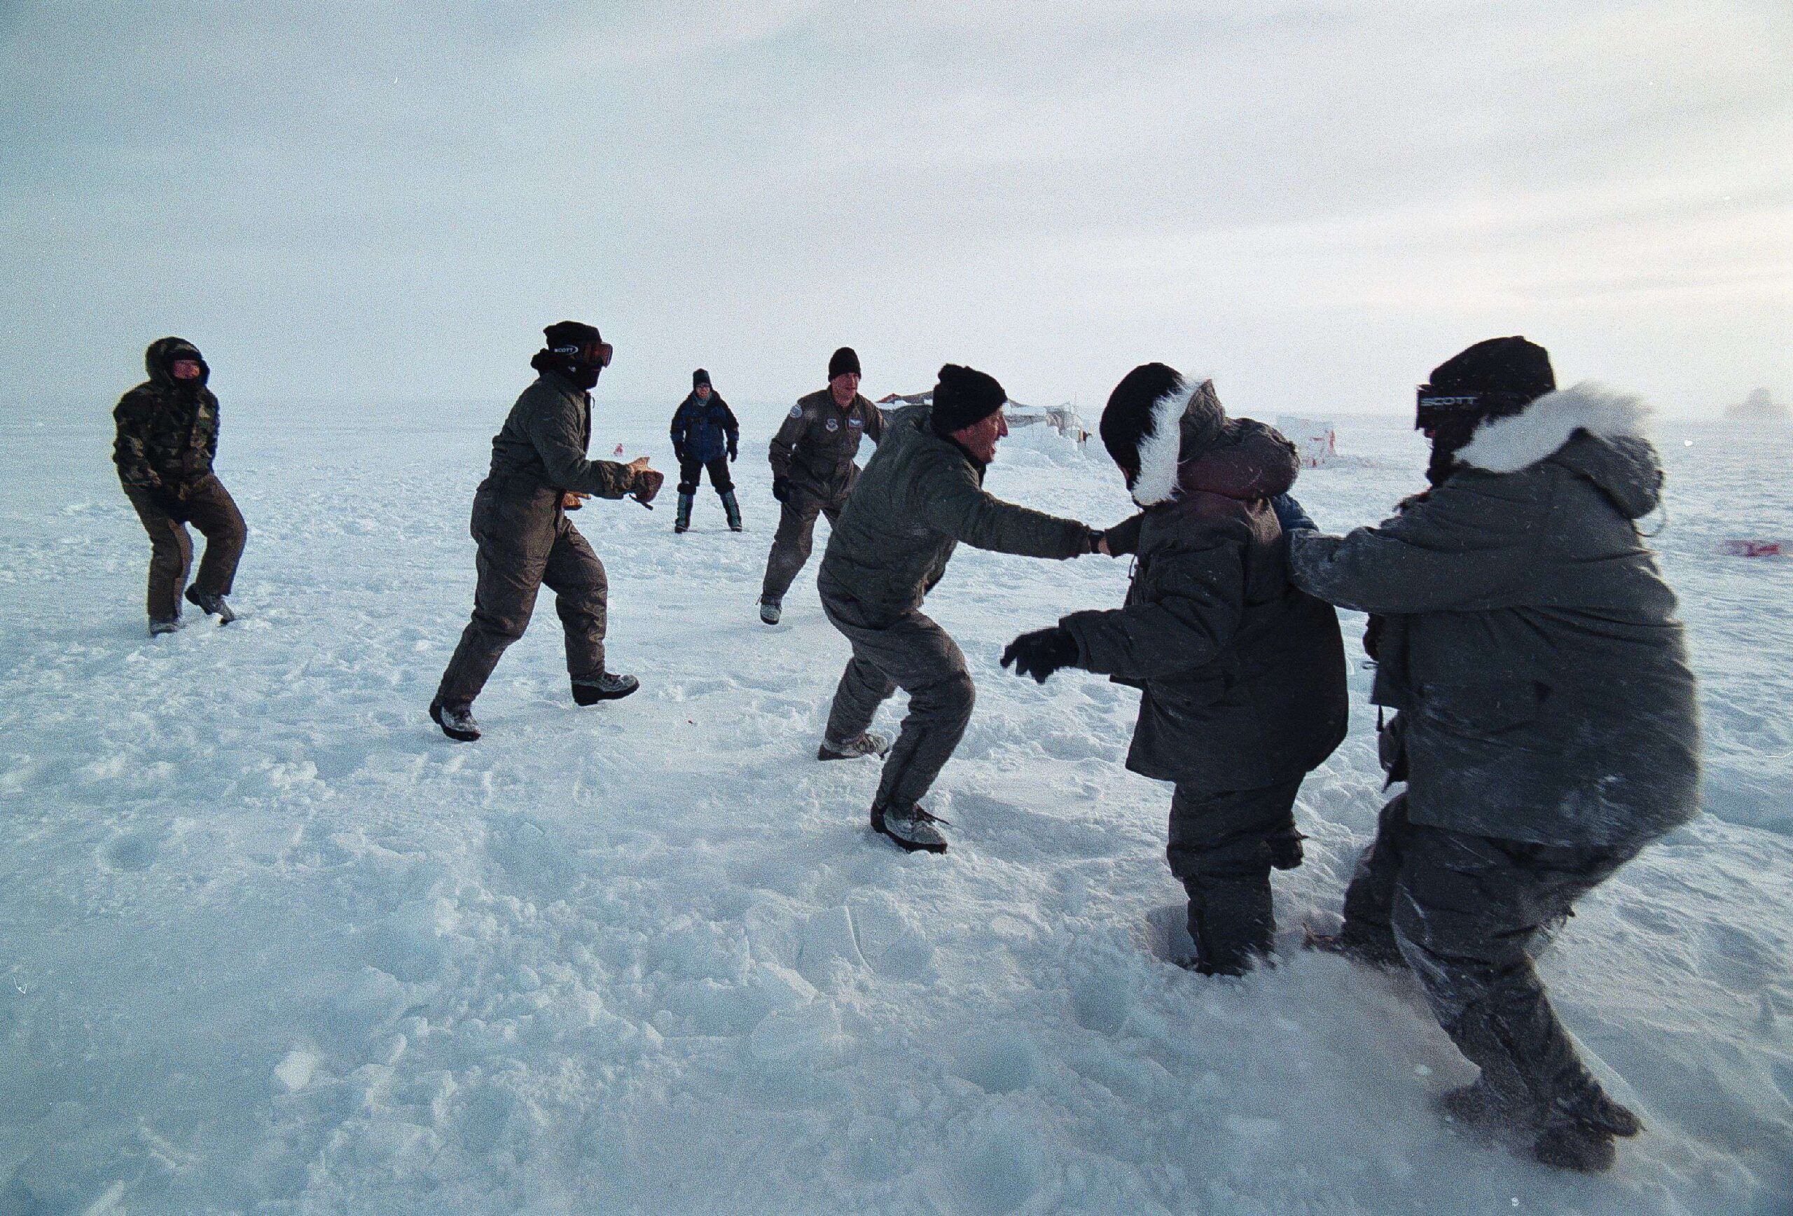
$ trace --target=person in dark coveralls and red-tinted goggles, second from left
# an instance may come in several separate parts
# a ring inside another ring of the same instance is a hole
[[[663,477],[647,457],[617,465],[586,459],[592,443],[592,386],[610,366],[611,346],[590,325],[556,321],[529,366],[540,377],[524,389],[491,439],[491,472],[473,495],[479,585],[473,619],[443,673],[430,717],[461,743],[479,739],[473,698],[504,649],[529,628],[536,592],[554,592],[567,631],[572,699],[595,705],[635,692],[635,676],[604,669],[608,583],[604,565],[567,520],[590,495],[651,502]]]

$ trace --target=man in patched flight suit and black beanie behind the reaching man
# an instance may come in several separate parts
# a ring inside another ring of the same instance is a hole
[[[884,411],[859,395],[859,355],[843,346],[828,359],[828,387],[800,398],[771,441],[773,497],[778,499],[778,533],[766,554],[760,586],[760,621],[778,624],[784,594],[809,561],[816,517],[839,522],[841,506],[859,477],[853,457],[861,436],[879,443]]]

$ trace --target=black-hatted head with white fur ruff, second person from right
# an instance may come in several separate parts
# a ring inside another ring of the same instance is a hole
[[[1128,371],[1108,395],[1099,429],[1133,500],[1153,506],[1171,499],[1180,463],[1221,441],[1226,411],[1214,380],[1191,384],[1176,368],[1148,362]]]

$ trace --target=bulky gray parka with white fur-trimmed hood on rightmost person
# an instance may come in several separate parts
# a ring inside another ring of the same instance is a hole
[[[1637,850],[1696,814],[1694,680],[1633,524],[1662,488],[1642,420],[1549,393],[1395,518],[1291,536],[1296,585],[1388,615],[1373,699],[1400,710],[1415,823]]]

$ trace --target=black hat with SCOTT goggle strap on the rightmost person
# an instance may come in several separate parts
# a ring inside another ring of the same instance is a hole
[[[1433,368],[1413,421],[1433,432],[1425,481],[1443,484],[1456,470],[1456,454],[1485,421],[1517,414],[1555,389],[1549,352],[1519,335],[1490,337]]]

